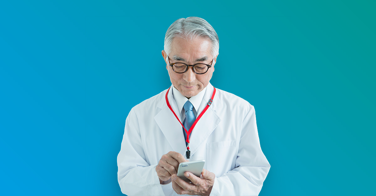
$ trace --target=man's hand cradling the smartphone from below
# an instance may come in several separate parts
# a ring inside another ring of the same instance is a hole
[[[187,183],[175,174],[171,176],[172,188],[177,194],[210,195],[215,179],[214,173],[203,169],[200,178],[191,172],[185,172],[184,175],[191,180],[192,183]]]

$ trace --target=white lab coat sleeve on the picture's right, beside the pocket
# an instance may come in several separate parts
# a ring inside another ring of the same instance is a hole
[[[252,106],[243,121],[235,168],[215,178],[210,195],[258,195],[269,169],[261,151]]]

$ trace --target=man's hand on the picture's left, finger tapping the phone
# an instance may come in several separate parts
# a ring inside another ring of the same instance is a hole
[[[171,175],[176,175],[179,163],[183,162],[188,162],[188,160],[185,160],[180,153],[170,151],[167,154],[164,154],[155,168],[159,177],[159,183],[162,184],[163,181],[170,180]]]

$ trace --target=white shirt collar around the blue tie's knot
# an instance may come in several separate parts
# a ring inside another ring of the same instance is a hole
[[[202,99],[204,98],[204,95],[205,95],[205,91],[206,91],[206,87],[200,91],[199,94],[197,94],[196,96],[193,96],[191,97],[190,99],[187,99],[185,96],[183,96],[174,86],[172,88],[172,94],[173,94],[173,97],[174,97],[174,100],[176,101],[176,105],[177,105],[177,108],[179,109],[179,112],[182,111],[183,107],[184,107],[184,104],[187,100],[189,100],[194,109],[196,110],[196,113],[199,111],[199,107],[201,105],[201,102],[202,102]]]

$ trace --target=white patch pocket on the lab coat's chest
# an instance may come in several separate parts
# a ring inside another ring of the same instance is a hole
[[[237,156],[236,141],[206,143],[207,167],[216,177],[220,177],[235,166]]]

